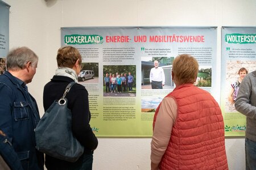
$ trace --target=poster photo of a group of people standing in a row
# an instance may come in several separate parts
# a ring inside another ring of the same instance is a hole
[[[135,96],[136,67],[104,66],[104,96]]]

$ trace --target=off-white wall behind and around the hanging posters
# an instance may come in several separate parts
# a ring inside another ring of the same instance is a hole
[[[60,27],[217,26],[217,74],[221,26],[256,26],[255,0],[3,0],[10,8],[10,49],[28,46],[39,56],[28,84],[43,114],[43,86],[56,69]],[[217,77],[217,76],[216,76]],[[220,76],[217,77],[220,89]],[[219,92],[214,97],[220,99]],[[150,138],[100,138],[93,169],[150,169]],[[245,169],[244,139],[226,139],[229,169]]]

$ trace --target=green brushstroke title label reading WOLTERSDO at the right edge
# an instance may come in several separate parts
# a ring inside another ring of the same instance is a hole
[[[254,44],[256,43],[256,34],[226,34],[225,42],[228,42],[229,44]]]

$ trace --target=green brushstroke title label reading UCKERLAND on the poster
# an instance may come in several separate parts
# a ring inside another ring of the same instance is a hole
[[[65,35],[64,36],[65,44],[102,44],[103,37],[99,35]]]

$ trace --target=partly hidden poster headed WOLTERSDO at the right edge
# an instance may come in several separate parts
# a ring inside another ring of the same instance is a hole
[[[256,27],[222,27],[221,110],[226,136],[244,136],[246,118],[234,101],[243,77],[256,69]]]

